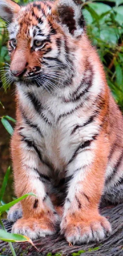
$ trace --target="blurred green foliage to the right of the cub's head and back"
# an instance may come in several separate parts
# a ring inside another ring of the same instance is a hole
[[[110,7],[110,3],[114,7]],[[99,2],[83,2],[87,21],[87,33],[96,45],[103,61],[116,102],[123,111],[123,0],[109,0],[109,5]]]

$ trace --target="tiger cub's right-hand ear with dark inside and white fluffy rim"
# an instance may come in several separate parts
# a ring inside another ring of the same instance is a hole
[[[56,0],[52,13],[59,16],[59,20],[67,26],[71,35],[78,37],[82,34],[85,20],[81,7],[73,0]]]

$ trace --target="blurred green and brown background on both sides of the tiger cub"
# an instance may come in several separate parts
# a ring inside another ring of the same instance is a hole
[[[24,5],[29,1],[17,0],[16,2]],[[123,111],[123,0],[79,0],[76,2],[82,6],[87,33],[104,64],[107,82],[115,101]],[[14,86],[13,84],[10,85],[4,73],[7,66],[5,63],[9,63],[7,39],[7,23],[0,19],[0,117],[9,115],[15,118]],[[13,123],[11,125],[13,126]],[[11,164],[11,159],[9,152],[10,134],[7,133],[2,123],[0,123],[0,130],[1,185],[5,171]],[[13,195],[13,176],[11,173],[3,199],[7,203]]]

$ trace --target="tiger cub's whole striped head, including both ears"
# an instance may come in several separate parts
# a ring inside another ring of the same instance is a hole
[[[0,0],[0,16],[10,22],[9,72],[13,80],[38,87],[68,81],[75,45],[83,33],[78,5],[59,0],[20,7],[11,0]]]

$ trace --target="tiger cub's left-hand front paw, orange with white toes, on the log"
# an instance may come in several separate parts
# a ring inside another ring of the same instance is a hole
[[[57,222],[53,222],[48,218],[22,218],[13,225],[12,233],[22,234],[35,240],[39,237],[45,237],[55,234],[57,231]]]

